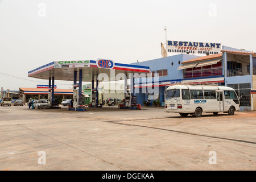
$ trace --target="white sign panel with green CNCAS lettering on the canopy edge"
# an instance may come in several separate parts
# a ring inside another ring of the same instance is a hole
[[[54,68],[87,68],[90,61],[55,61]]]

